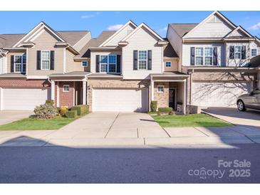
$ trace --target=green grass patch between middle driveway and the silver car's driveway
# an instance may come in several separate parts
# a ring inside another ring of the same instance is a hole
[[[232,125],[205,114],[163,115],[152,117],[161,127],[224,127]]]

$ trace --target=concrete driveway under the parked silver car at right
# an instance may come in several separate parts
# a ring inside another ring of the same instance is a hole
[[[260,112],[258,111],[240,112],[235,107],[209,107],[203,111],[234,125],[260,127]]]

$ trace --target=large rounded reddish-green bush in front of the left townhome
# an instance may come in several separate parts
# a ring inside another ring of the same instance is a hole
[[[31,117],[37,119],[51,119],[58,114],[56,107],[54,107],[50,103],[45,103],[44,105],[36,106],[33,112],[35,115],[32,115]]]

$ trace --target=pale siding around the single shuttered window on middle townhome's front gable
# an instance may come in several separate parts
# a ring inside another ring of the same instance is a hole
[[[133,70],[133,51],[152,51],[152,70]],[[123,78],[145,79],[150,73],[162,73],[162,46],[157,46],[157,40],[145,28],[140,28],[128,39],[128,46],[123,47]]]

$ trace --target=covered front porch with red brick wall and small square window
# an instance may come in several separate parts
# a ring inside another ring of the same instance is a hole
[[[85,72],[49,75],[51,100],[54,100],[55,105],[73,107],[88,104],[87,75]]]

